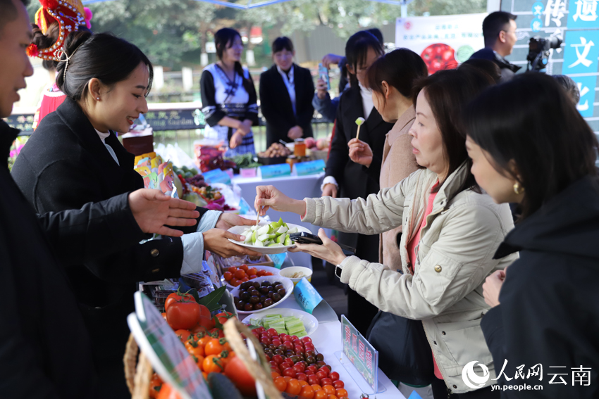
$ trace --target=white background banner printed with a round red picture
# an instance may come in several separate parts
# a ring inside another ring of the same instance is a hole
[[[397,18],[395,46],[419,53],[429,73],[455,68],[485,46],[486,13]]]

